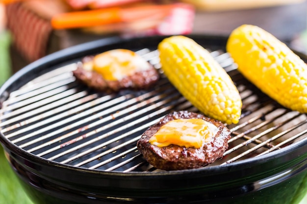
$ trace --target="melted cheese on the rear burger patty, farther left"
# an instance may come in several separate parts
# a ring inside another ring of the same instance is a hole
[[[106,80],[121,80],[150,65],[141,56],[128,49],[113,49],[98,54],[93,59],[93,70]]]

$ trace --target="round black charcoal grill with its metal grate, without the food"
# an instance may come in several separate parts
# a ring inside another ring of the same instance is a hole
[[[281,107],[249,83],[225,52],[226,37],[189,36],[207,48],[237,86],[242,118],[229,125],[224,157],[204,168],[161,171],[136,148],[172,111],[197,112],[168,82],[106,94],[76,81],[86,55],[138,52],[160,69],[163,36],[103,39],[36,61],[0,90],[0,141],[28,195],[39,204],[291,204],[307,192],[307,115]],[[302,59],[307,56],[298,53]]]

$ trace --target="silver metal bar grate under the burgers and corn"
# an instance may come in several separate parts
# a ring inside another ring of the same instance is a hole
[[[138,51],[159,69],[157,51]],[[240,91],[243,108],[224,158],[211,165],[257,157],[307,137],[307,115],[291,112],[258,91],[237,72],[229,55],[211,52]],[[136,149],[150,126],[173,110],[197,110],[165,77],[149,91],[103,94],[72,75],[76,64],[27,83],[3,102],[1,133],[39,157],[103,171],[155,171]]]

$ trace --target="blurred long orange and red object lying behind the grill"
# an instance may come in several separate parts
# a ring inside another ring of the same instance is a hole
[[[185,3],[110,7],[58,14],[53,16],[51,25],[54,29],[100,26],[104,31],[109,28],[109,32],[116,28],[123,33],[142,30],[163,35],[188,34],[192,31],[194,13],[194,7]]]

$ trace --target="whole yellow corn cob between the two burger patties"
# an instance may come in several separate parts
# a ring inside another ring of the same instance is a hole
[[[178,91],[205,115],[238,123],[240,94],[227,72],[210,53],[184,36],[172,36],[159,45],[164,74]]]

